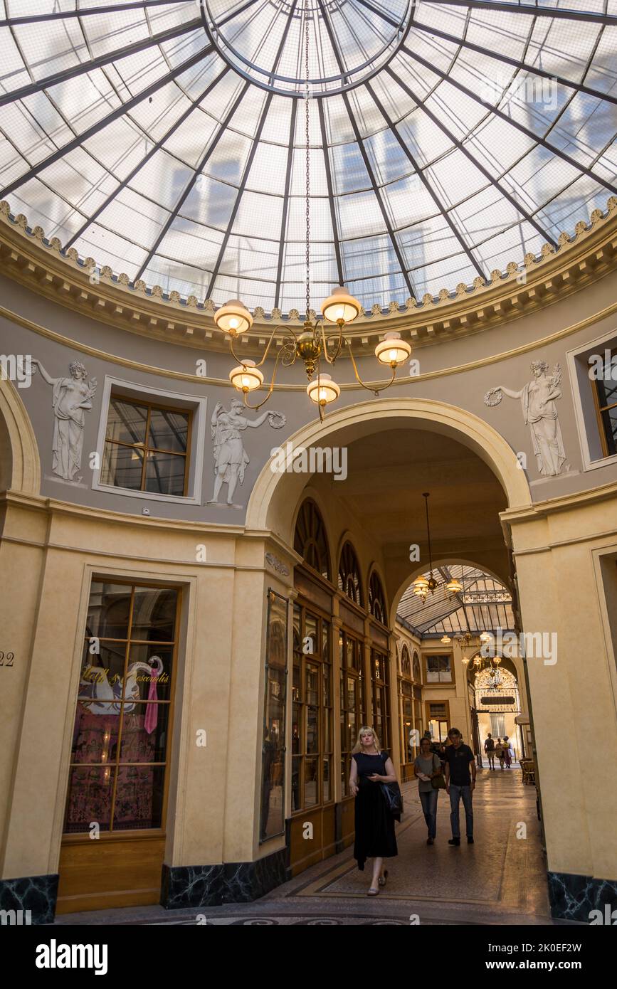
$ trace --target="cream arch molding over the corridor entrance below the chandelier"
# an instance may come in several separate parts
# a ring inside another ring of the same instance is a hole
[[[295,447],[347,446],[395,425],[426,429],[458,441],[476,453],[495,475],[508,508],[531,504],[527,478],[503,436],[478,415],[445,402],[393,398],[347,405],[328,414],[323,422],[309,422],[289,441]],[[266,463],[248,500],[246,528],[270,529],[291,545],[296,506],[306,484],[306,475],[275,473],[270,462]]]

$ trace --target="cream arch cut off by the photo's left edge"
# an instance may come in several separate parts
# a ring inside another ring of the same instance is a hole
[[[40,494],[41,460],[33,424],[13,382],[0,375],[0,492]]]

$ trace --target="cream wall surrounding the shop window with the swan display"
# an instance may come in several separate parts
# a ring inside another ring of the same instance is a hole
[[[0,724],[2,874],[57,870],[94,573],[183,590],[165,860],[253,859],[264,600],[267,586],[286,590],[264,556],[269,549],[285,559],[284,548],[231,528],[95,514],[34,496],[8,494],[4,509],[0,566],[11,581],[1,621],[16,663],[2,671],[5,680],[14,674],[4,692],[10,714]],[[206,546],[205,563],[196,562],[198,544]],[[207,731],[206,748],[196,744],[199,729]]]

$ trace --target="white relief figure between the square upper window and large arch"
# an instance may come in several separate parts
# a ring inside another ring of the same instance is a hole
[[[263,412],[256,419],[248,419],[238,399],[232,400],[229,411],[220,402],[217,403],[211,420],[211,433],[215,441],[215,491],[208,504],[219,503],[223,484],[227,486],[227,504],[233,503],[235,486],[238,481],[244,483],[244,469],[249,462],[240,433],[247,427],[256,429],[266,419],[274,429],[280,429],[286,422],[282,412],[273,411]]]

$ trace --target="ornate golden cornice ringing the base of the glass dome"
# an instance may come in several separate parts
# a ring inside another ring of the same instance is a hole
[[[105,323],[129,329],[149,338],[187,346],[206,344],[211,350],[227,350],[228,337],[214,321],[212,300],[168,295],[142,280],[131,284],[126,274],[115,275],[94,258],[80,258],[74,248],[63,251],[57,237],[47,240],[41,226],[31,229],[27,218],[13,217],[9,204],[0,203],[0,258],[4,271],[17,282],[70,309]],[[589,222],[579,221],[571,236],[559,236],[557,250],[544,244],[541,253],[526,254],[522,264],[511,261],[505,273],[495,270],[485,284],[478,277],[473,286],[459,284],[454,292],[441,289],[421,302],[408,299],[405,307],[393,302],[387,310],[374,306],[347,330],[358,354],[372,353],[377,340],[397,329],[416,346],[478,332],[504,320],[548,306],[617,268],[617,197],[607,211],[594,210]],[[297,310],[284,319],[279,310],[265,315],[255,310],[255,322],[242,334],[241,348],[248,357],[263,348],[276,320],[281,339],[286,325],[302,320]]]

